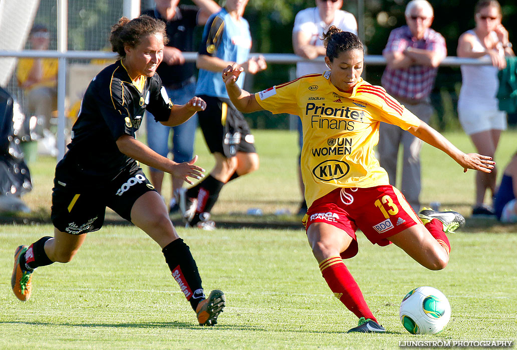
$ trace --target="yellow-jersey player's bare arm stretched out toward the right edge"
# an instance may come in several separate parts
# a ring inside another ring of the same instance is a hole
[[[492,161],[492,157],[478,153],[463,153],[457,147],[452,145],[451,142],[442,134],[423,121],[420,121],[418,128],[412,126],[408,131],[422,141],[427,142],[429,145],[447,153],[455,162],[463,167],[464,172],[468,169],[492,172],[492,169],[495,166],[495,162]]]

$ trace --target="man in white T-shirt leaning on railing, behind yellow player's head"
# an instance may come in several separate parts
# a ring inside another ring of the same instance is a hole
[[[308,59],[325,56],[323,46],[323,33],[330,26],[336,26],[344,31],[351,31],[357,35],[357,21],[350,12],[340,10],[343,0],[316,0],[316,7],[301,10],[296,14],[293,27],[293,50],[298,56]],[[323,73],[328,69],[325,62],[298,62],[296,63],[296,77],[310,73]],[[303,131],[301,120],[298,119],[298,183],[301,194],[305,192],[305,186],[301,180],[300,156],[303,146]],[[298,215],[305,215],[307,203],[302,200]]]

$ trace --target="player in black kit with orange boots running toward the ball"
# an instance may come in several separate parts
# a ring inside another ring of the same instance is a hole
[[[148,16],[123,17],[110,41],[120,59],[89,84],[81,103],[73,138],[55,171],[52,189],[54,237],[45,236],[14,253],[11,287],[22,301],[31,296],[34,269],[72,260],[88,232],[97,231],[108,206],[141,228],[162,248],[174,279],[196,312],[200,325],[214,325],[224,307],[224,294],[205,297],[189,247],[178,236],[165,203],[137,162],[183,179],[203,177],[196,158],[175,163],[135,139],[144,110],[164,125],[183,123],[206,103],[197,97],[174,105],[155,70],[162,60],[165,24]]]

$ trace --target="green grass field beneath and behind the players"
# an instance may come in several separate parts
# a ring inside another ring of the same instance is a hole
[[[473,151],[461,133],[446,135]],[[282,131],[256,132],[261,169],[223,189],[216,219],[284,220],[300,200],[295,177],[296,137]],[[199,163],[211,167],[202,138]],[[506,132],[496,160],[500,174],[517,149],[517,133]],[[431,147],[422,150],[422,203],[440,201],[469,215],[474,172]],[[47,216],[55,160],[31,165],[35,189],[24,200]],[[167,196],[166,196],[167,197]],[[263,217],[246,210],[261,208]],[[159,247],[142,231],[106,226],[89,234],[68,264],[39,268],[33,295],[21,303],[10,290],[12,254],[52,232],[50,225],[0,227],[0,348],[2,349],[397,349],[407,340],[517,341],[517,232],[515,225],[467,220],[451,235],[447,268],[431,272],[394,246],[372,246],[361,234],[359,254],[345,261],[370,308],[388,333],[347,334],[356,317],[332,295],[312,257],[305,232],[178,228],[189,244],[204,288],[222,289],[225,312],[214,328],[196,326],[193,311],[170,276]],[[431,285],[452,307],[447,328],[435,336],[412,336],[398,319],[402,297]]]

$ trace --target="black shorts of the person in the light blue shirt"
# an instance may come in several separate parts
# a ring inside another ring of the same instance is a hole
[[[255,139],[242,113],[229,99],[200,96],[206,109],[197,112],[199,125],[211,153],[220,152],[226,158],[237,152],[256,153]]]

